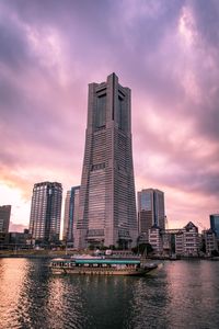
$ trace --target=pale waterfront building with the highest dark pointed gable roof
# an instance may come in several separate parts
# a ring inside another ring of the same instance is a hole
[[[175,234],[175,253],[185,257],[199,254],[200,240],[198,228],[189,222],[182,230]]]

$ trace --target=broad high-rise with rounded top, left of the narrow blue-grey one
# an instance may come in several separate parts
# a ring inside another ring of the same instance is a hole
[[[59,239],[62,186],[57,182],[34,184],[30,234],[33,241],[53,242]]]

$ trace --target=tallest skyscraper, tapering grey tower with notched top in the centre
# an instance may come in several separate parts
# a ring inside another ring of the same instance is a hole
[[[76,247],[136,246],[130,90],[115,73],[89,84]]]

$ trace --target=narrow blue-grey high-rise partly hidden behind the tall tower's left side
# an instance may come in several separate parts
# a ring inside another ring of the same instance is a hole
[[[67,191],[64,213],[64,236],[67,242],[73,242],[73,227],[77,220],[80,186],[73,186]]]

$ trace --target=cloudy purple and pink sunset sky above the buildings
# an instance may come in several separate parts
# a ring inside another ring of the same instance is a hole
[[[219,1],[1,0],[0,205],[28,226],[34,183],[79,185],[88,84],[131,89],[136,191],[168,227],[219,212]]]

